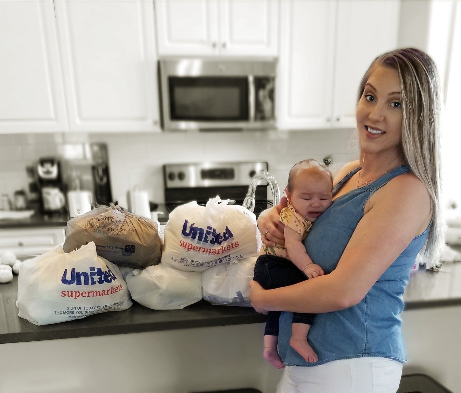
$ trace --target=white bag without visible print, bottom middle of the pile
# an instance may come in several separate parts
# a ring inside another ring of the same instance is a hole
[[[181,272],[163,264],[135,269],[126,275],[131,297],[154,310],[175,310],[202,298],[201,273]]]

